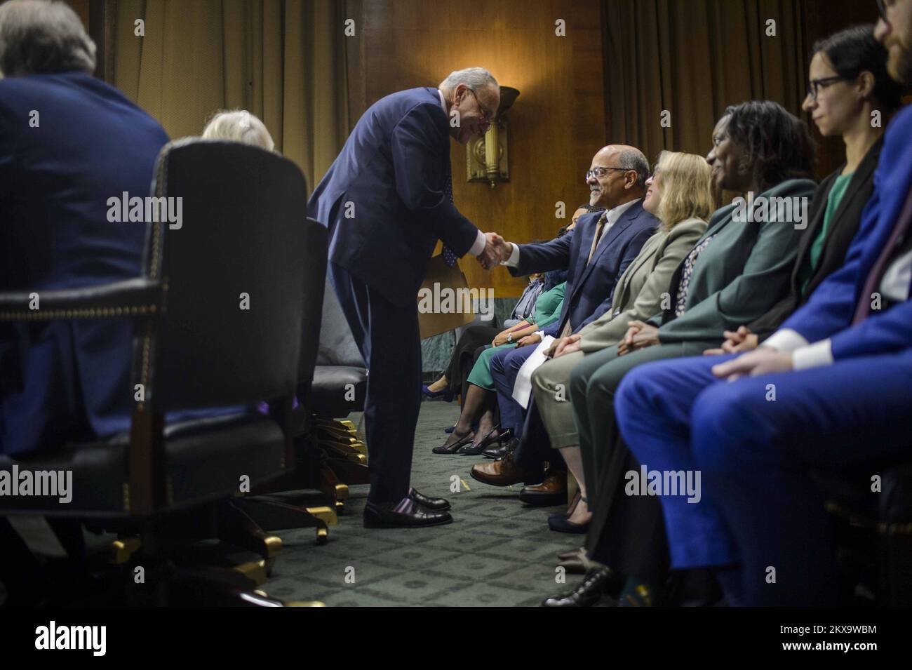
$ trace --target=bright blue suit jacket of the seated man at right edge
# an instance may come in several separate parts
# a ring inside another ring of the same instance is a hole
[[[821,283],[810,300],[785,320],[809,342],[832,338],[834,359],[871,356],[912,347],[912,300],[874,312],[861,324],[852,317],[868,273],[876,263],[912,189],[912,108],[886,129],[874,175],[874,194],[845,265]]]

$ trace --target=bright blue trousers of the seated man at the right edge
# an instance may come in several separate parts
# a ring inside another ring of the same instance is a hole
[[[699,503],[660,499],[673,565],[741,562],[747,604],[836,604],[834,527],[811,470],[874,476],[912,455],[912,351],[732,383],[710,371],[728,358],[650,363],[617,390],[640,463],[701,473]]]

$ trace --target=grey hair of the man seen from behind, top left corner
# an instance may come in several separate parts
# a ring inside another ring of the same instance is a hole
[[[5,77],[95,72],[95,43],[69,5],[10,0],[0,5],[0,72]]]

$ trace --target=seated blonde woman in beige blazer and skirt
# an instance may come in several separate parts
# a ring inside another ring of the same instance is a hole
[[[668,308],[672,275],[706,231],[715,210],[710,166],[702,156],[663,151],[646,183],[643,209],[661,220],[658,231],[617,281],[611,309],[578,333],[554,343],[553,359],[532,376],[535,407],[541,412],[551,445],[561,450],[580,484],[567,514],[554,515],[549,520],[555,531],[585,532],[590,516],[580,450],[565,440],[572,435],[577,441],[573,405],[567,395],[570,373],[587,354],[617,345],[627,333],[629,322],[646,321]]]

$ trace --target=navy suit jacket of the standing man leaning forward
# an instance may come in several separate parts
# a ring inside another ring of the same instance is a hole
[[[437,240],[461,256],[478,237],[445,193],[449,175],[450,120],[437,89],[379,99],[307,205],[329,229],[329,260],[390,302],[415,303]]]

